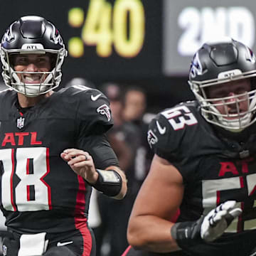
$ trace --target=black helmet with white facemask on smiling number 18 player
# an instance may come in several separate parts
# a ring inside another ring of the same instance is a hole
[[[15,54],[48,54],[50,55],[50,72],[17,72],[14,70],[12,56]],[[1,39],[2,76],[7,86],[28,97],[36,97],[58,87],[61,80],[61,66],[67,55],[63,39],[57,28],[45,18],[23,16],[11,23]],[[31,84],[18,78],[25,73],[40,75],[41,82]]]

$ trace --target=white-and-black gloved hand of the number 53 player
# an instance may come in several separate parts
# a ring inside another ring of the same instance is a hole
[[[211,242],[220,237],[228,228],[234,218],[238,217],[242,210],[235,206],[235,201],[226,201],[213,209],[203,218],[201,224],[201,238]]]

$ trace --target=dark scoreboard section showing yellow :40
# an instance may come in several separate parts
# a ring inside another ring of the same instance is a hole
[[[75,73],[110,79],[161,73],[161,1],[90,0],[70,7],[67,22]]]

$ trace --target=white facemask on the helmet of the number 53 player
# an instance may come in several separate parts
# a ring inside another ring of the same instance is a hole
[[[255,75],[256,72],[248,76]],[[230,132],[240,132],[256,121],[256,90],[253,89],[254,86],[251,85],[252,89],[249,91],[226,97],[209,97],[208,90],[214,86],[225,86],[225,84],[228,86],[228,82],[240,79],[241,75],[237,78],[234,77],[215,82],[204,81],[193,83],[188,81],[191,85],[191,90],[193,90],[194,95],[201,105],[203,117],[211,124],[228,129]],[[241,110],[240,105],[246,105],[246,110]],[[219,107],[223,110],[221,113],[218,110]]]

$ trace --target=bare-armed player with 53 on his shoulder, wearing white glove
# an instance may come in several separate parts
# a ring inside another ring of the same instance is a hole
[[[255,61],[231,38],[204,43],[193,56],[188,82],[196,100],[149,124],[154,159],[124,255],[254,255]]]

